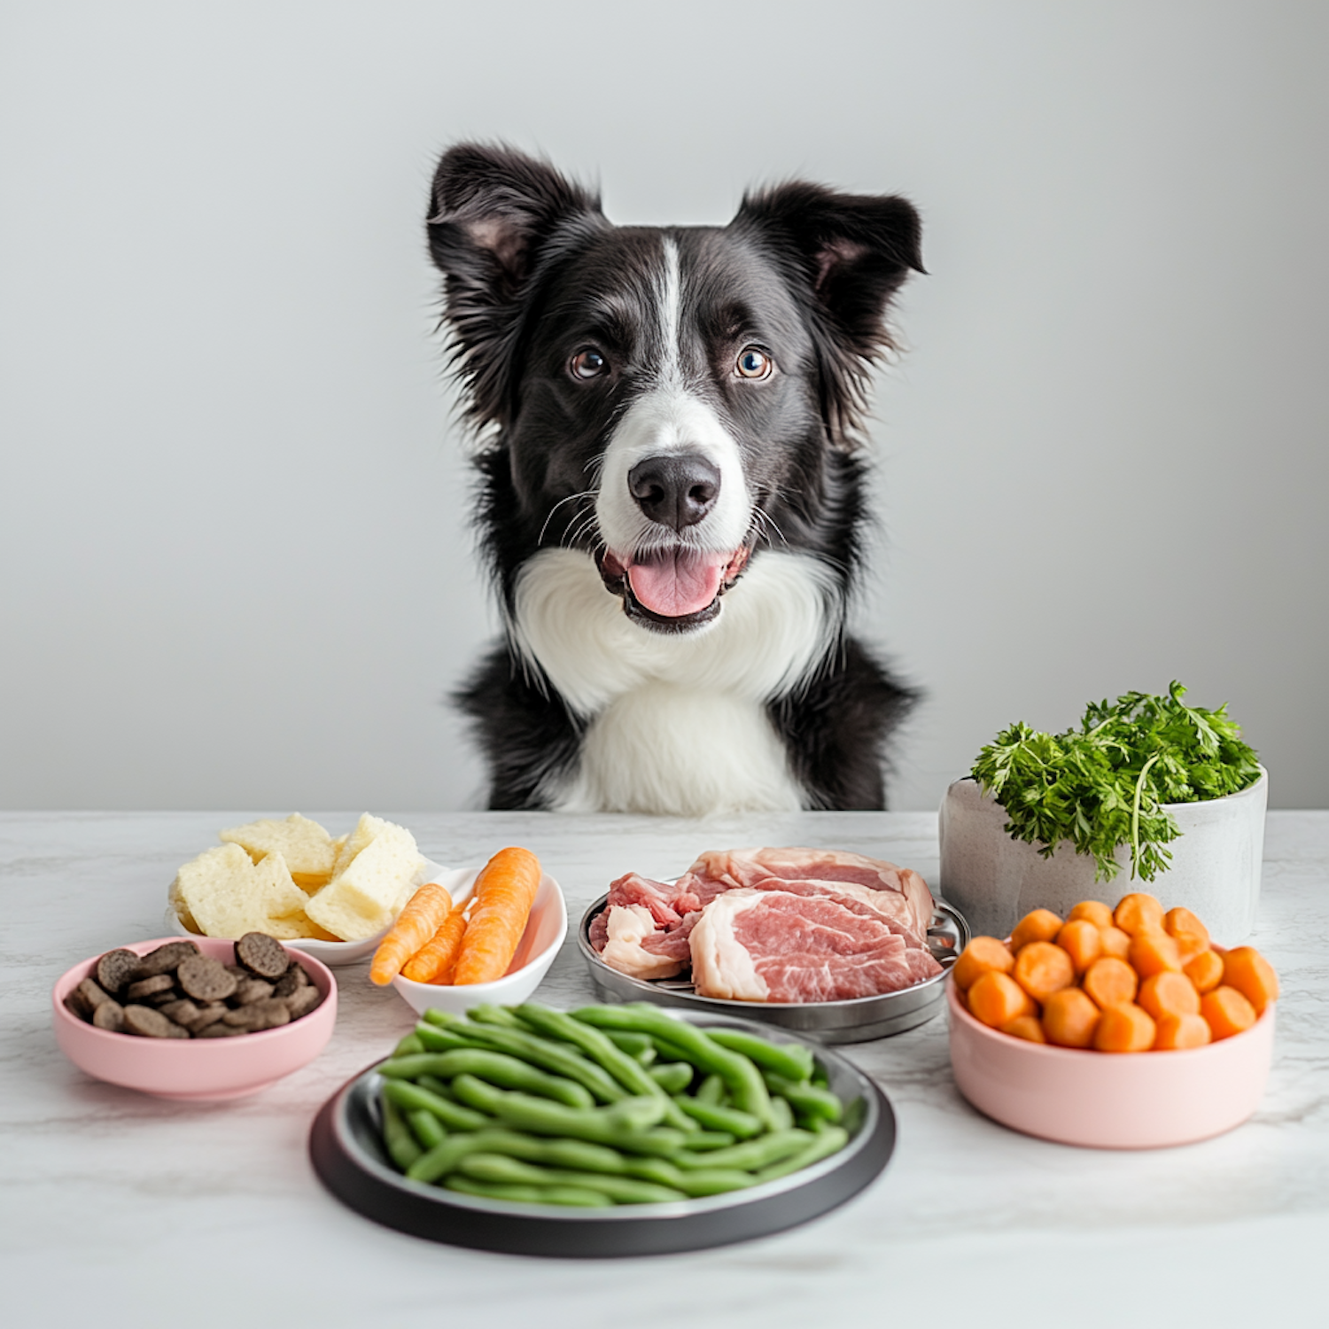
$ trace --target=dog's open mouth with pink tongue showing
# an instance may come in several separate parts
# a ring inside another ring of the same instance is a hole
[[[682,633],[708,623],[720,597],[739,579],[752,553],[664,549],[647,554],[597,556],[605,586],[622,595],[629,618],[663,631]]]

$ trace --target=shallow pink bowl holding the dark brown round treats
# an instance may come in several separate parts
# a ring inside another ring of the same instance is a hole
[[[194,944],[205,956],[231,964],[235,944],[213,937],[195,937]],[[148,954],[178,937],[157,941],[134,941],[125,946],[138,956]],[[108,948],[110,949],[110,948]],[[290,1075],[312,1062],[327,1046],[336,1023],[336,979],[331,970],[312,956],[291,950],[290,954],[310,975],[323,1001],[300,1019],[280,1029],[266,1029],[242,1038],[137,1038],[113,1034],[81,1021],[65,1007],[65,995],[86,978],[100,952],[74,965],[51,991],[51,1013],[56,1042],[61,1051],[96,1079],[125,1088],[137,1088],[158,1098],[214,1100],[241,1098]]]

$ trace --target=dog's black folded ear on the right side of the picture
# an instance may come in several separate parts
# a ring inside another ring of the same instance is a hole
[[[839,194],[793,182],[748,194],[732,223],[758,231],[808,298],[821,361],[831,440],[852,443],[867,404],[868,369],[892,347],[890,298],[925,271],[918,213],[897,195]]]

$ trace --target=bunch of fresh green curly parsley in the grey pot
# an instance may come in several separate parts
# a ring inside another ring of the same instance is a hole
[[[1152,881],[1181,832],[1164,803],[1200,803],[1260,779],[1227,706],[1187,706],[1174,682],[1167,696],[1127,692],[1115,706],[1090,703],[1078,730],[1039,734],[1017,723],[978,754],[973,777],[1006,809],[1006,833],[1041,844],[1050,859],[1062,840],[1092,855],[1095,881],[1111,881],[1116,847],[1131,847],[1131,876]]]

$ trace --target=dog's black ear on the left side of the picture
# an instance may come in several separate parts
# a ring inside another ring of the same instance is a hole
[[[522,296],[541,253],[575,221],[605,225],[599,199],[512,148],[457,144],[439,161],[425,226],[444,275],[468,413],[505,421]]]

